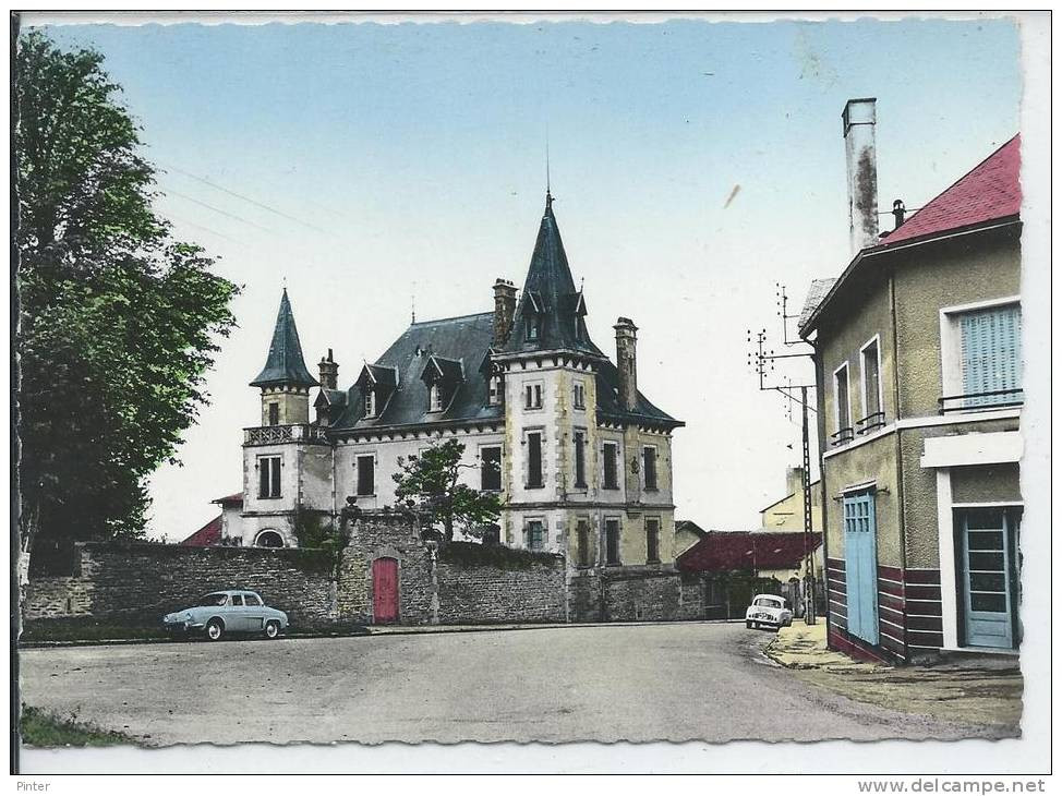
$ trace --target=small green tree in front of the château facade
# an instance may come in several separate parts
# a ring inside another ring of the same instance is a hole
[[[496,494],[458,483],[461,470],[479,467],[462,463],[463,456],[463,443],[436,441],[420,456],[399,457],[399,471],[391,477],[398,508],[414,511],[425,529],[442,528],[447,542],[454,540],[455,528],[481,535],[483,526],[502,514]]]

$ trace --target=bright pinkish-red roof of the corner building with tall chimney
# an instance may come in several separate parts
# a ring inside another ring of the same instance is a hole
[[[1015,135],[881,241],[915,238],[1016,216],[1022,209],[1022,135]]]

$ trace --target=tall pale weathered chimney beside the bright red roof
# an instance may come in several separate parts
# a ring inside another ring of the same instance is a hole
[[[878,243],[878,154],[874,128],[876,99],[849,99],[844,122],[845,160],[848,167],[848,238],[852,256]]]

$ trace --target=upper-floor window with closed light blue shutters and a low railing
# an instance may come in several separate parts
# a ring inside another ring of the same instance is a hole
[[[965,406],[1021,400],[1021,307],[1011,304],[966,312],[958,316],[958,326]]]

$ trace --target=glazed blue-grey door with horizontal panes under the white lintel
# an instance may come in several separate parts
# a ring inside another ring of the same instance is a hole
[[[963,608],[969,647],[1014,647],[1012,539],[1017,524],[1002,509],[964,511]]]

